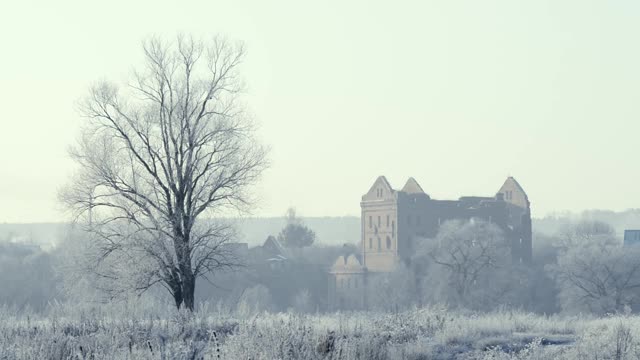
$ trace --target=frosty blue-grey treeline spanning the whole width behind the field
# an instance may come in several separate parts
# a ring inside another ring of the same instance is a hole
[[[423,239],[396,272],[370,277],[368,304],[379,310],[431,303],[479,311],[504,306],[547,314],[640,310],[640,250],[623,247],[617,228],[634,227],[627,225],[638,212],[583,215],[545,218],[544,231],[539,225],[543,220],[536,220],[530,265],[510,262],[509,244],[498,229],[481,222],[449,223],[437,238]],[[607,216],[617,227],[599,220]],[[247,266],[201,279],[197,300],[252,311],[326,309],[327,271],[338,256],[358,254],[359,249],[355,243],[323,244],[314,219],[304,219],[304,226],[313,230],[312,241],[310,233],[291,228],[282,218],[254,242],[261,244],[267,234],[279,238],[289,246],[286,265]],[[343,219],[348,226],[334,232],[350,231],[351,222],[359,224],[354,219]],[[111,300],[96,289],[94,274],[78,271],[89,242],[80,233],[62,233],[65,240],[48,251],[0,239],[0,304],[42,309],[52,301]],[[296,234],[303,239],[298,245],[286,239]],[[163,294],[156,289],[149,293]]]

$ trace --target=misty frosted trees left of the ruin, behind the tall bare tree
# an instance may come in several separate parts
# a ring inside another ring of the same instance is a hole
[[[262,242],[252,246],[254,256],[245,258],[242,266],[198,279],[197,302],[248,312],[324,310],[329,267],[338,256],[355,253],[357,248],[320,243],[306,221],[288,219],[284,224],[274,238],[286,245],[286,261],[271,263],[260,249]],[[100,305],[132,298],[171,302],[160,285],[144,293],[114,292],[100,274],[84,270],[92,261],[87,256],[92,251],[87,236],[67,229],[64,240],[49,251],[0,240],[0,306],[40,311],[54,302]]]

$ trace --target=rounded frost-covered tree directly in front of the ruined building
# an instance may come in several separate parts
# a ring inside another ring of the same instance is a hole
[[[421,240],[413,267],[426,301],[487,309],[514,304],[526,276],[511,266],[510,247],[495,224],[447,221],[434,239]],[[420,265],[418,267],[418,265]]]

